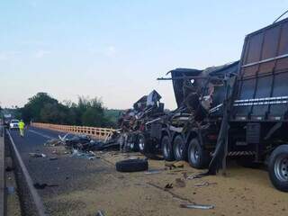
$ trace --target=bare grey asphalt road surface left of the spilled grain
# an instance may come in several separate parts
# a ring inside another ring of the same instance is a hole
[[[20,137],[18,130],[12,130],[11,135],[33,183],[55,185],[38,190],[49,215],[69,215],[67,212],[77,214],[78,211],[82,215],[88,215],[85,213],[85,203],[81,200],[66,202],[62,199],[59,202],[57,198],[71,192],[101,186],[103,174],[111,173],[114,168],[97,158],[89,160],[83,157],[72,157],[71,154],[64,154],[67,151],[64,148],[59,151],[59,147],[44,146],[48,139],[64,135],[61,132],[30,128],[25,131],[24,138]],[[55,154],[56,149],[59,154]],[[29,153],[43,153],[47,157],[31,157]],[[50,160],[51,157],[57,159]],[[96,212],[96,206],[94,208]]]

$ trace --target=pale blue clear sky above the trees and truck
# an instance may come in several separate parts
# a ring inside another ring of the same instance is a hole
[[[245,35],[287,9],[288,0],[2,0],[0,105],[47,92],[126,109],[156,89],[174,109],[171,81],[157,77],[238,60]]]

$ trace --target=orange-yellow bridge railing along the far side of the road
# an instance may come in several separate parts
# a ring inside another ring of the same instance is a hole
[[[91,136],[94,139],[107,139],[112,135],[112,132],[116,131],[108,128],[94,128],[94,127],[49,124],[40,122],[31,122],[31,126],[36,128],[58,130],[75,134],[85,134]]]

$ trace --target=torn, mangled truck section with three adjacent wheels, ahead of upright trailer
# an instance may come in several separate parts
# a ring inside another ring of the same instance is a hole
[[[196,168],[208,167],[222,119],[225,79],[235,76],[238,61],[204,70],[169,71],[177,109],[166,118],[162,152],[166,160],[188,160]],[[163,78],[160,78],[162,80]]]

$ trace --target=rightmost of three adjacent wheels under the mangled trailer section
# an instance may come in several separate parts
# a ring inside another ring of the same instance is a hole
[[[188,161],[194,168],[207,168],[209,165],[209,152],[202,148],[198,139],[192,139],[189,143]]]

